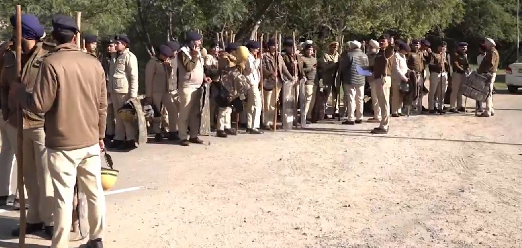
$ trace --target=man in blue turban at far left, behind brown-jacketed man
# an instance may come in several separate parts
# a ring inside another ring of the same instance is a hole
[[[15,28],[15,17],[11,17],[11,25]],[[45,32],[38,18],[31,14],[22,15],[22,72],[21,82],[28,93],[35,88],[40,63],[55,45],[42,42]],[[46,159],[47,149],[44,145],[44,115],[36,111],[23,110],[22,123],[17,121],[16,98],[9,98],[9,90],[18,83],[16,71],[16,53],[11,49],[4,57],[2,71],[1,99],[2,116],[8,125],[22,126],[23,129],[23,178],[26,183],[29,210],[27,212],[26,233],[34,233],[45,229],[51,238],[53,233],[53,185]],[[13,129],[14,130],[14,129]],[[16,134],[15,134],[16,135]],[[19,229],[13,231],[18,236]]]

